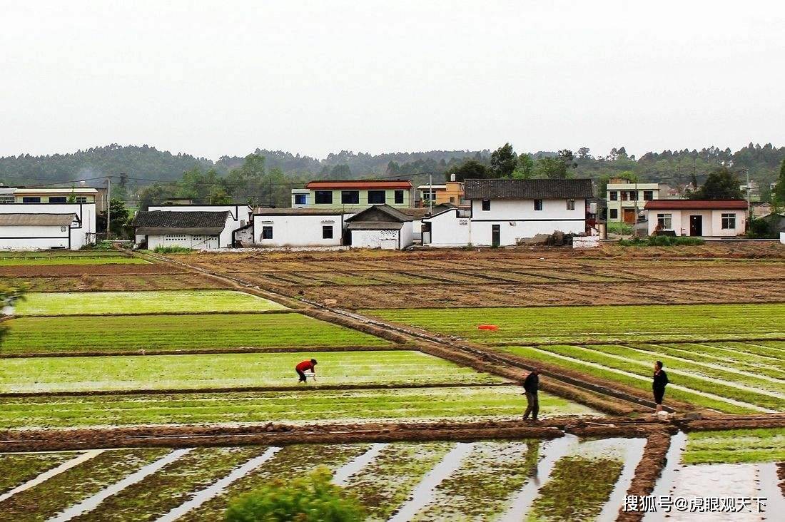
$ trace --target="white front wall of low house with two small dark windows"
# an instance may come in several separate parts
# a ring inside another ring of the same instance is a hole
[[[272,239],[261,239],[261,228],[272,226]],[[322,238],[322,227],[333,228],[332,239]],[[343,235],[341,214],[254,216],[254,243],[260,246],[338,246]]]

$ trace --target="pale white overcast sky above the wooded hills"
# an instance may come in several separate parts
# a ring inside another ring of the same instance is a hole
[[[0,0],[0,155],[785,144],[785,2]]]

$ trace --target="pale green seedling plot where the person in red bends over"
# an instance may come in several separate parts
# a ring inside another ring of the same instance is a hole
[[[6,359],[2,392],[298,386],[294,365],[315,357],[320,385],[487,384],[502,378],[414,351]]]

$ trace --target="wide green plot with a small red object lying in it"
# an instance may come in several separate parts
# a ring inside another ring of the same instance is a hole
[[[364,312],[440,334],[487,343],[732,340],[785,335],[785,305],[405,308]],[[496,331],[477,330],[495,324]]]

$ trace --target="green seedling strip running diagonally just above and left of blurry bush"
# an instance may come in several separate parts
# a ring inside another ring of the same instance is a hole
[[[364,444],[296,444],[284,447],[268,462],[233,483],[224,494],[217,495],[202,506],[185,513],[179,522],[223,520],[228,503],[240,495],[267,485],[272,480],[293,480],[312,472],[319,465],[334,471],[366,449],[367,445]]]

